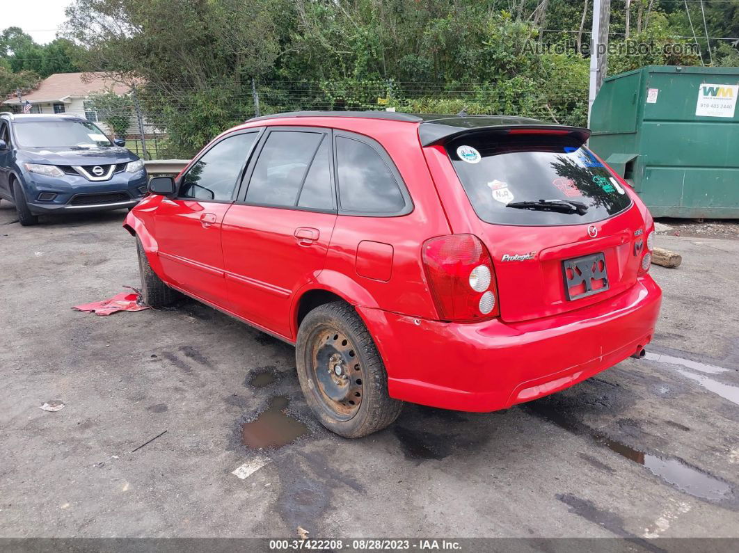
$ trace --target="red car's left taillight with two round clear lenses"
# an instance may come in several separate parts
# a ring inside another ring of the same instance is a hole
[[[499,315],[493,264],[477,236],[452,234],[426,240],[423,267],[443,320],[480,320]]]

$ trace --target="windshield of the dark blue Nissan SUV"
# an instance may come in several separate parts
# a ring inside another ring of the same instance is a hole
[[[18,144],[26,148],[112,146],[108,137],[88,121],[18,121]]]

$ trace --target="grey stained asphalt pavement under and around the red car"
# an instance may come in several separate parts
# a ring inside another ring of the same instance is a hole
[[[739,537],[739,240],[658,236],[683,263],[651,269],[647,359],[347,440],[266,334],[192,300],[71,309],[138,286],[124,215],[0,203],[0,537]]]

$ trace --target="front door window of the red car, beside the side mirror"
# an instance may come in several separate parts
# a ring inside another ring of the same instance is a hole
[[[177,197],[230,200],[257,134],[235,134],[206,151],[185,173]]]

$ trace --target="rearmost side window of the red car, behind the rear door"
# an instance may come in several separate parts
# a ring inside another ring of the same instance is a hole
[[[406,207],[395,176],[372,146],[337,137],[336,171],[341,210],[391,215]]]

